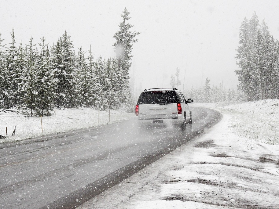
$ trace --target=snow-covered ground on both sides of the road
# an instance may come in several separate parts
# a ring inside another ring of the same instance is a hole
[[[220,111],[222,121],[79,208],[279,208],[278,103],[191,104]],[[12,141],[134,117],[100,112],[98,122],[98,114],[56,110],[42,118],[43,133],[40,117],[1,114],[0,135],[6,126],[11,135],[17,125]]]

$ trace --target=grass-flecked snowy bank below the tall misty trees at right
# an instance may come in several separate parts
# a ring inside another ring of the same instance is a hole
[[[230,127],[241,137],[272,145],[279,144],[279,100],[266,99],[261,101],[231,104],[196,103],[216,109],[232,116]]]

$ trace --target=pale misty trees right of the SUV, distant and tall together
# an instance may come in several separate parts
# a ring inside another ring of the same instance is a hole
[[[274,40],[265,20],[259,24],[257,13],[250,20],[244,17],[240,26],[239,46],[236,49],[235,70],[239,85],[237,89],[223,88],[222,83],[210,85],[205,79],[202,87],[184,90],[184,95],[196,102],[255,101],[279,99],[279,40]],[[181,85],[180,70],[171,75],[172,87]]]

